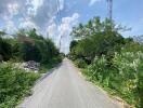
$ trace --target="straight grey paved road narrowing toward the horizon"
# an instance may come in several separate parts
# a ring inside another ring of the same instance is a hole
[[[105,92],[86,81],[68,59],[34,87],[21,108],[121,108]]]

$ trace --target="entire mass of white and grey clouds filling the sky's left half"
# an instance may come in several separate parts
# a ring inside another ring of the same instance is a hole
[[[60,36],[63,36],[62,51],[67,52],[69,33],[77,24],[79,14],[63,17],[62,24],[57,25],[57,12],[65,9],[65,0],[58,2],[57,10],[56,0],[3,0],[0,2],[0,21],[4,22],[1,28],[6,28],[8,32],[14,32],[18,28],[37,28],[44,36],[49,32],[56,44]]]

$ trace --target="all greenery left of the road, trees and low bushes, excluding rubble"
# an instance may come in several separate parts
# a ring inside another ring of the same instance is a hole
[[[0,31],[0,108],[14,108],[30,93],[40,73],[61,63],[62,56],[52,40],[36,29],[20,30],[13,38],[3,38],[4,35]],[[28,60],[40,63],[38,73],[14,66]]]

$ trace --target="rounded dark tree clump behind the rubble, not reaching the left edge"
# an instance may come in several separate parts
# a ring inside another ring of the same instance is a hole
[[[49,63],[60,55],[54,43],[50,39],[37,35],[35,29],[18,32],[16,39],[18,41],[13,44],[13,53],[22,60]]]

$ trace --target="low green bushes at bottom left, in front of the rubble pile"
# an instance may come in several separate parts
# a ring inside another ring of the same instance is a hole
[[[30,93],[40,76],[14,68],[11,63],[0,64],[0,108],[13,108]]]

